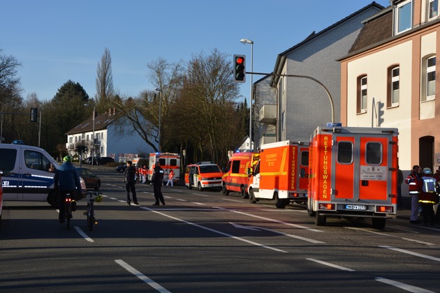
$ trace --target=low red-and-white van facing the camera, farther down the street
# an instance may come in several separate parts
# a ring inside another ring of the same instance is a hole
[[[222,176],[219,165],[214,162],[199,162],[186,166],[185,186],[189,189],[198,188],[200,191],[207,188],[221,190]]]

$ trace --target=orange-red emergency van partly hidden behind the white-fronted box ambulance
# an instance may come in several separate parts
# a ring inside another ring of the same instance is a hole
[[[248,198],[249,176],[247,170],[248,168],[253,169],[259,158],[259,151],[239,151],[233,153],[221,179],[221,193],[229,195],[230,192],[237,192],[240,193],[242,198]]]

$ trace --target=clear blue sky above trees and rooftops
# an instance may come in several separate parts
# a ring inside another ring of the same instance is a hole
[[[0,0],[0,50],[22,63],[22,97],[50,100],[68,80],[90,98],[105,48],[112,57],[113,87],[122,96],[154,90],[147,63],[190,61],[214,49],[247,56],[256,73],[271,73],[278,54],[313,31],[372,0]],[[376,0],[388,7],[389,0]],[[253,81],[262,75],[254,75]],[[249,105],[250,76],[240,84]]]

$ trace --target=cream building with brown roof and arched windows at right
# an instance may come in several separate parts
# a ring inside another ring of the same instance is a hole
[[[399,129],[399,167],[440,165],[438,0],[391,1],[341,61],[341,121]],[[436,140],[437,137],[437,140]]]

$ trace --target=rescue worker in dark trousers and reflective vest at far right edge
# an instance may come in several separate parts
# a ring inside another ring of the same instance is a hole
[[[422,206],[423,225],[434,225],[434,204],[439,203],[439,195],[437,195],[437,181],[432,177],[430,168],[423,169],[423,177],[421,178],[423,185],[420,188],[418,202]]]

